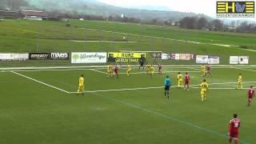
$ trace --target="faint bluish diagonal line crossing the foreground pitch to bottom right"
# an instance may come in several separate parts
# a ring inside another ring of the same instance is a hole
[[[112,101],[112,102],[118,102],[118,103],[121,103],[125,106],[129,106],[131,108],[134,108],[134,109],[138,109],[138,110],[142,110],[142,111],[145,111],[147,112],[148,114],[154,114],[154,115],[157,115],[159,117],[162,117],[162,118],[166,118],[168,120],[171,120],[171,121],[174,121],[174,122],[178,122],[178,123],[182,123],[183,125],[186,125],[186,126],[190,126],[190,127],[193,127],[194,129],[198,129],[198,130],[202,130],[208,134],[215,134],[215,135],[218,135],[219,137],[222,137],[222,138],[229,138],[229,136],[227,136],[226,134],[221,134],[217,131],[214,131],[214,130],[210,130],[210,129],[207,129],[207,128],[204,128],[204,127],[201,127],[201,126],[198,126],[192,122],[188,122],[188,121],[184,121],[182,119],[179,119],[179,118],[175,118],[171,115],[166,115],[166,114],[161,114],[155,110],[149,110],[149,109],[146,109],[146,108],[143,108],[142,106],[138,106],[138,105],[135,105],[135,104],[132,104],[132,103],[129,103],[129,102],[124,102],[124,101],[121,101],[121,100],[118,100],[116,98],[110,98],[108,96],[105,96],[105,95],[102,95],[102,94],[98,94],[98,93],[94,93],[95,95],[98,95],[102,98],[106,98],[108,99],[109,101]],[[249,144],[250,142],[245,142],[241,139],[238,139],[238,142],[241,142],[241,143],[244,143],[244,144]]]

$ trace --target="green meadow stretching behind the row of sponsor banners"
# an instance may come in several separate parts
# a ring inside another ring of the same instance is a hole
[[[168,53],[218,55],[221,64],[228,64],[230,55],[249,55],[250,64],[256,63],[254,56],[256,52],[240,47],[248,46],[256,50],[256,42],[254,41],[256,34],[183,30],[178,27],[77,20],[71,20],[71,27],[66,27],[65,22],[24,20],[5,20],[0,22],[0,26],[2,27],[0,30],[1,52],[161,50]],[[74,42],[74,40],[99,42]],[[6,63],[2,64],[9,65],[8,62]],[[194,61],[165,63],[194,64]],[[38,62],[38,65],[40,64]],[[46,62],[43,64],[54,63]],[[70,62],[61,61],[58,64],[69,65]]]

